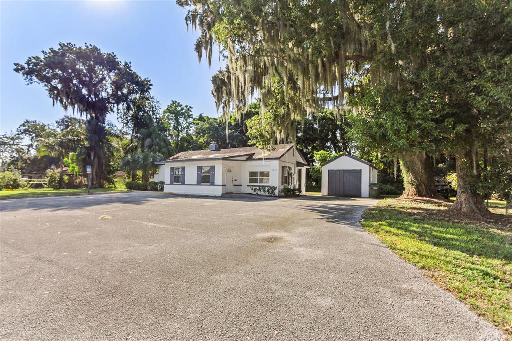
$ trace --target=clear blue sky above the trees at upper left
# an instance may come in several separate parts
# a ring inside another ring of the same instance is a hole
[[[175,1],[2,0],[0,6],[1,133],[15,130],[26,119],[54,123],[65,114],[53,108],[41,86],[27,86],[13,71],[15,62],[23,63],[59,42],[87,42],[131,61],[141,77],[152,80],[153,95],[163,108],[177,100],[193,106],[194,115],[217,116],[211,76],[220,68],[219,55],[214,55],[211,70],[207,61],[198,62],[194,51],[198,32],[187,31],[186,12]]]

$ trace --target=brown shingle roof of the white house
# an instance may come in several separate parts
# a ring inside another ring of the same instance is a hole
[[[169,161],[181,161],[181,160],[211,160],[211,159],[230,159],[236,157],[247,156],[249,160],[259,159],[279,159],[286,154],[293,147],[293,144],[278,144],[275,149],[271,152],[263,152],[257,147],[245,147],[245,148],[232,148],[223,149],[216,152],[205,151],[194,151],[194,152],[181,152],[175,156],[167,159],[164,162]]]

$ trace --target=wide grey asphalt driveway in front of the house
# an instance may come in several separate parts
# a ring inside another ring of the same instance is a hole
[[[362,230],[373,200],[1,203],[2,339],[500,339]]]

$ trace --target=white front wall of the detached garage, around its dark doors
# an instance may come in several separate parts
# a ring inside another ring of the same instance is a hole
[[[377,171],[370,167],[369,165],[349,158],[347,156],[342,156],[331,163],[322,167],[322,195],[327,196],[329,191],[329,169],[361,169],[361,197],[369,198],[370,197],[370,170],[375,171],[374,177],[375,182],[377,182]],[[373,177],[373,176],[372,176]]]

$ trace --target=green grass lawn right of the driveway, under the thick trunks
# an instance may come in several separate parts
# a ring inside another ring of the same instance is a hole
[[[365,212],[361,224],[399,257],[512,336],[512,230],[507,225],[488,228],[478,222],[446,221],[459,221],[443,212],[448,206],[383,200]]]

